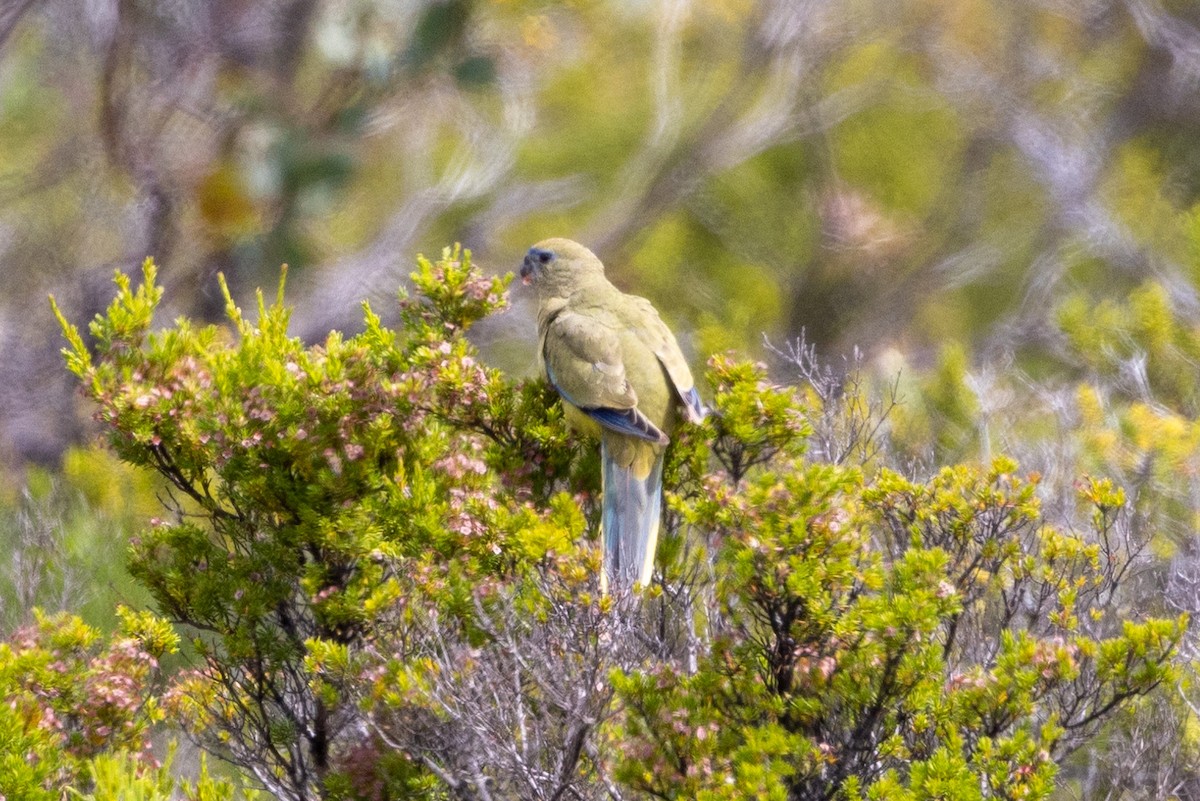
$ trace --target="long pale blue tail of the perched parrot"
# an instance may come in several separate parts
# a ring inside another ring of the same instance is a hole
[[[606,589],[628,589],[635,583],[646,586],[654,574],[654,549],[662,517],[664,450],[648,444],[641,446],[644,448],[638,454],[641,458],[626,466],[624,459],[613,458],[607,442],[600,444]]]

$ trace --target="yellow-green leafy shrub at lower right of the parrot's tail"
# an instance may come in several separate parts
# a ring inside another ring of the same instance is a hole
[[[1112,608],[1136,558],[1104,544],[1118,488],[1080,482],[1084,535],[1048,524],[1038,483],[1007,458],[916,481],[776,453],[677,499],[720,554],[721,633],[692,675],[617,681],[622,777],[679,799],[1046,797],[1063,753],[1175,675],[1186,620]]]

